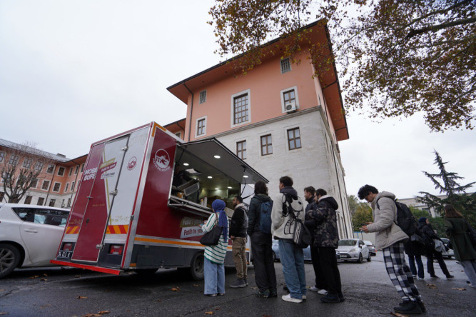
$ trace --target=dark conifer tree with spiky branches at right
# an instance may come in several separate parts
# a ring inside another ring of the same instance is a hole
[[[445,205],[450,204],[460,211],[467,219],[471,226],[476,225],[476,193],[467,194],[466,190],[471,188],[476,182],[460,185],[458,180],[464,177],[457,176],[457,173],[449,172],[445,168],[447,162],[443,162],[440,154],[435,151],[435,165],[438,166],[440,173],[425,173],[435,185],[435,189],[446,195],[446,198],[439,198],[436,195],[420,191],[422,196],[417,197],[417,201],[425,203],[428,207],[434,208],[435,211],[443,215]]]

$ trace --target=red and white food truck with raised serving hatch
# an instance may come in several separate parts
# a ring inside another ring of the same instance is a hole
[[[233,197],[256,181],[268,182],[218,140],[184,143],[155,122],[98,141],[51,262],[113,274],[180,268],[201,279],[198,225],[217,198],[231,216]]]

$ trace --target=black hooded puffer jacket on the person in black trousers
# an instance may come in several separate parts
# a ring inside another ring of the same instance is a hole
[[[338,248],[339,231],[335,214],[337,208],[339,205],[332,196],[319,198],[317,206],[310,213],[310,217],[315,221],[313,246]]]

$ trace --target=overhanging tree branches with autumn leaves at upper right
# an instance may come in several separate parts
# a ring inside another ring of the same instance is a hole
[[[473,129],[476,97],[476,3],[472,0],[216,0],[210,9],[224,56],[240,56],[245,73],[272,52],[304,51],[324,74],[335,61],[346,79],[347,110],[374,119],[425,114],[432,131]],[[310,41],[303,26],[329,24],[335,42]],[[369,109],[370,108],[370,109]]]

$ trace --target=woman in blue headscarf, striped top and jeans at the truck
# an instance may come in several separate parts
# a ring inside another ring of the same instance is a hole
[[[225,212],[225,202],[216,199],[211,204],[213,213],[202,226],[203,233],[211,231],[214,226],[222,226],[223,231],[216,246],[205,247],[204,278],[206,296],[225,295],[225,261],[226,248],[228,247],[228,216]]]

